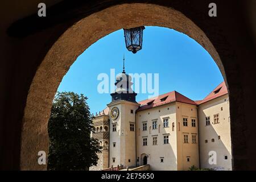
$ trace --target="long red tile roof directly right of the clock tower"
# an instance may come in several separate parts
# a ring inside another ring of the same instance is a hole
[[[166,100],[161,101],[163,98],[166,98]],[[138,102],[139,104],[141,104],[141,106],[139,107],[139,109],[137,111],[150,109],[152,107],[168,104],[171,102],[183,102],[183,103],[187,103],[187,104],[197,105],[195,101],[192,101],[188,97],[183,96],[179,92],[172,91],[172,92],[168,92],[166,94],[162,94],[158,97],[154,97],[154,98],[150,98],[148,100]]]

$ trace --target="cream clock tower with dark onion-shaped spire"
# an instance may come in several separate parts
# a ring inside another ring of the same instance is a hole
[[[112,102],[110,110],[109,166],[136,166],[136,126],[135,111],[139,104],[131,89],[131,76],[123,72],[117,76],[115,92],[110,94]]]

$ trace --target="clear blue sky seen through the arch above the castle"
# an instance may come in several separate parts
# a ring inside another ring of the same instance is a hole
[[[187,35],[162,27],[146,27],[143,48],[127,51],[123,30],[98,40],[82,53],[59,85],[58,91],[83,93],[91,113],[98,113],[111,101],[110,94],[100,94],[100,73],[110,76],[122,72],[125,54],[126,73],[159,73],[159,94],[176,90],[192,100],[201,100],[223,81],[220,70],[203,47]],[[148,98],[139,93],[137,101]]]

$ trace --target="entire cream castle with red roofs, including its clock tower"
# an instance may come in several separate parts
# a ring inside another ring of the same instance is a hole
[[[123,68],[112,101],[95,115],[92,137],[99,140],[102,152],[90,170],[145,164],[151,170],[232,170],[225,82],[201,101],[172,91],[137,102],[131,85]]]

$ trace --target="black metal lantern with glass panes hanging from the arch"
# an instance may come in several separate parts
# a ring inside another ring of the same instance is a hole
[[[128,51],[136,53],[142,49],[142,36],[144,26],[130,29],[123,29],[125,32],[125,44]]]

